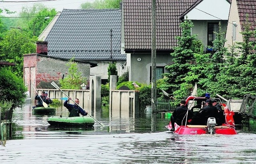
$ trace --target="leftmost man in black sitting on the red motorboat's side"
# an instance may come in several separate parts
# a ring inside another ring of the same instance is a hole
[[[192,112],[188,110],[185,104],[185,100],[180,100],[180,106],[174,109],[171,116],[172,130],[174,130],[174,123],[177,123],[178,125],[185,125],[186,120],[192,118]],[[188,118],[186,118],[186,113],[188,113]]]

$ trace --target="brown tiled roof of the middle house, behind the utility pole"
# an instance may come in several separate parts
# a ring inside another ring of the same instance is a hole
[[[172,49],[180,35],[180,17],[200,0],[156,2],[156,49]],[[123,0],[125,49],[151,49],[151,0]]]

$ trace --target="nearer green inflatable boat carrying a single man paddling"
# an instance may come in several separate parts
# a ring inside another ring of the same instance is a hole
[[[94,119],[92,117],[57,117],[51,116],[48,118],[48,123],[52,126],[85,126],[92,127],[94,125]]]

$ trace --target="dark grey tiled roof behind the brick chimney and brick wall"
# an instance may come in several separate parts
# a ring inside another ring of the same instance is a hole
[[[48,56],[62,59],[110,60],[110,29],[112,59],[126,60],[121,55],[120,10],[64,9],[45,41]]]

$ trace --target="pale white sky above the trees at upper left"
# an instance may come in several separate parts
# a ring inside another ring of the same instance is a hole
[[[20,2],[22,1],[22,2]],[[28,1],[28,2],[26,2]],[[38,2],[29,2],[29,1],[38,1]],[[40,2],[41,1],[41,2]],[[44,6],[48,8],[55,8],[58,11],[62,11],[62,9],[80,9],[80,5],[84,2],[93,2],[94,0],[53,0],[53,1],[45,1],[42,0],[0,0],[0,8],[8,9],[10,11],[16,11],[16,14],[6,14],[1,13],[4,16],[17,16],[21,11],[22,7],[32,7],[35,3],[44,4]]]

